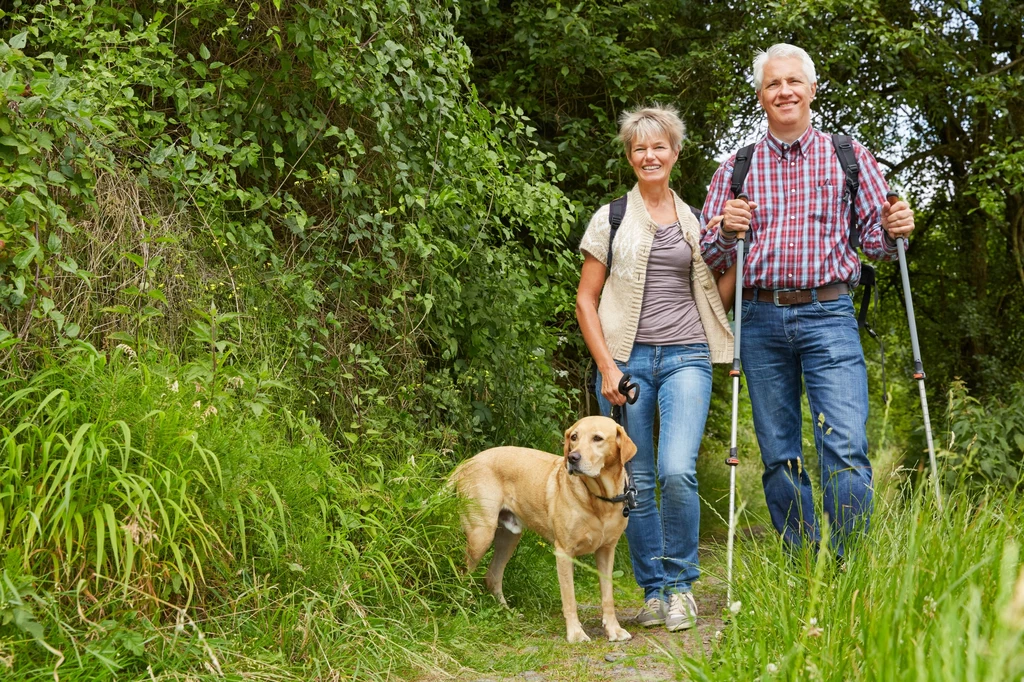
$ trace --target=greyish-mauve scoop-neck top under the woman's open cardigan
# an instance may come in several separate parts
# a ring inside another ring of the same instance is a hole
[[[693,251],[683,239],[678,222],[657,228],[647,259],[636,343],[652,346],[708,343],[690,289],[692,259]]]

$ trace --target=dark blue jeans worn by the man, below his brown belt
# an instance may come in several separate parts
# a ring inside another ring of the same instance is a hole
[[[820,541],[803,462],[801,374],[814,421],[822,509],[838,554],[871,513],[867,372],[853,299],[777,306],[743,301],[740,354],[772,523],[793,547]]]

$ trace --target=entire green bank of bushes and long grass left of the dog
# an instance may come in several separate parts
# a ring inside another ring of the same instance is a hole
[[[527,122],[444,2],[5,8],[0,666],[408,667],[441,474],[568,410]]]

